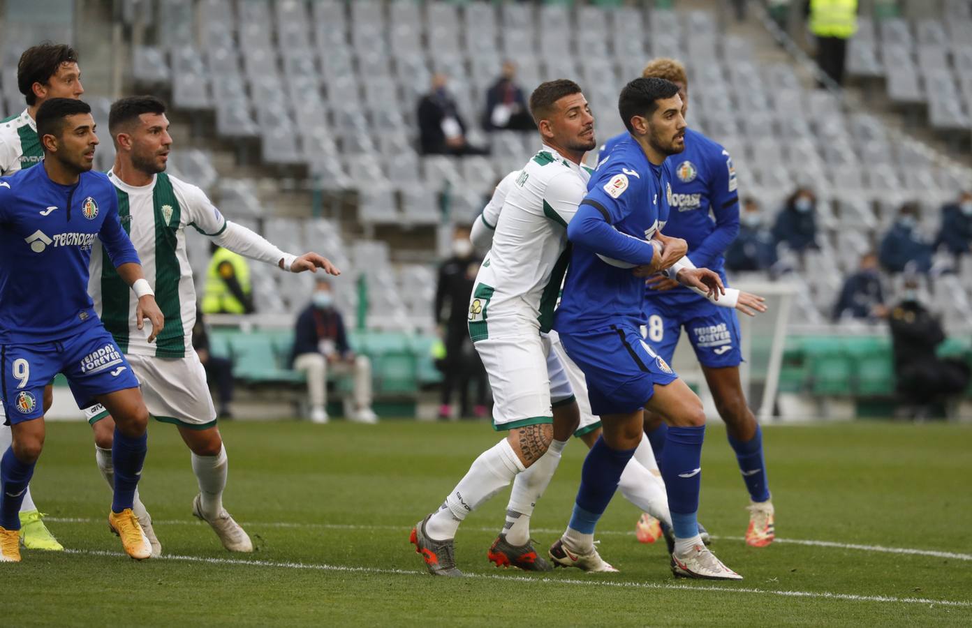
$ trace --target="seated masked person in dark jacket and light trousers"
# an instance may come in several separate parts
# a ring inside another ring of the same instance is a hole
[[[294,370],[307,374],[310,397],[310,420],[327,423],[328,371],[354,378],[353,410],[349,420],[375,423],[371,410],[371,361],[366,355],[355,355],[341,313],[334,309],[330,282],[317,281],[310,305],[297,316],[294,330]]]

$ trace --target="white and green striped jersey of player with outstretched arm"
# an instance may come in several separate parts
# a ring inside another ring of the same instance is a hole
[[[124,353],[157,357],[183,357],[191,350],[195,325],[195,286],[186,255],[186,227],[207,236],[226,230],[226,218],[206,194],[190,183],[160,173],[153,182],[135,187],[122,182],[112,171],[119,196],[119,219],[142,260],[142,272],[156,292],[156,303],[165,315],[165,327],[148,342],[151,325],[138,329],[138,299],[107,259],[104,248],[91,251],[87,291],[95,312]]]

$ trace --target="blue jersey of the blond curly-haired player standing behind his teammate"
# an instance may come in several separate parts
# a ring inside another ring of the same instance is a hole
[[[608,140],[605,153],[625,137],[627,133]],[[716,271],[724,280],[723,254],[739,233],[736,169],[729,151],[702,133],[685,129],[685,149],[666,159],[664,165],[672,183],[672,208],[665,235],[683,239],[692,263]],[[682,286],[646,292],[649,299],[673,304],[706,300]]]

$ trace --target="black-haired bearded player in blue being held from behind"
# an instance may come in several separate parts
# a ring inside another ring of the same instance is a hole
[[[573,254],[554,319],[561,343],[587,379],[591,411],[601,416],[604,431],[584,460],[571,522],[550,547],[550,557],[562,566],[616,571],[598,556],[594,529],[642,440],[648,409],[670,425],[661,474],[676,537],[673,573],[742,579],[699,536],[702,402],[639,331],[643,277],[667,270],[708,294],[722,289],[712,271],[678,262],[684,241],[658,233],[668,190],[662,164],[684,149],[678,87],[663,79],[636,79],[621,91],[618,111],[629,137],[601,159],[568,225]]]

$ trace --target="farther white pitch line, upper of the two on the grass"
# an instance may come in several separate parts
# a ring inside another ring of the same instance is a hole
[[[52,521],[53,523],[98,523],[101,519],[83,518],[83,517],[44,517],[47,521]],[[156,520],[153,519],[153,523],[160,525],[199,525],[199,521],[191,521],[189,519],[170,519],[170,520]],[[410,528],[403,528],[397,525],[355,525],[349,523],[289,523],[285,521],[275,521],[275,522],[256,522],[256,521],[244,521],[241,525],[254,526],[258,528],[307,528],[307,529],[318,529],[318,530],[376,530],[376,531],[392,531],[407,533]],[[466,530],[473,530],[475,532],[492,532],[495,528],[465,528]],[[560,534],[563,530],[554,530],[553,528],[534,528],[533,532],[539,534]],[[598,530],[599,535],[603,536],[631,536],[631,532],[621,532],[619,530]],[[712,539],[716,541],[745,541],[744,537],[720,537],[712,536]],[[933,558],[953,558],[955,560],[969,560],[972,561],[972,554],[961,554],[954,551],[942,551],[939,549],[918,549],[915,547],[887,547],[885,545],[862,545],[856,543],[837,543],[835,541],[813,541],[804,539],[780,539],[774,543],[779,544],[789,544],[789,545],[811,545],[817,547],[835,547],[838,549],[856,549],[859,551],[870,551],[876,553],[885,554],[909,554],[913,556],[931,556]]]

